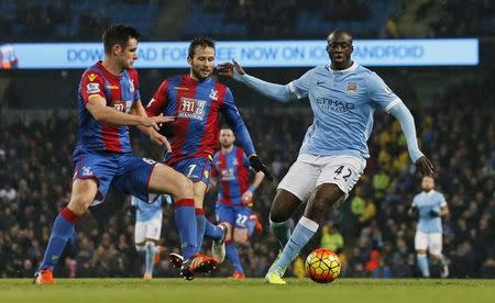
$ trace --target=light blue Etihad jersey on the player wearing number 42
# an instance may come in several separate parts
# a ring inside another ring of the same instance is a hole
[[[317,66],[288,87],[298,98],[309,98],[315,114],[299,155],[369,158],[374,110],[388,112],[402,102],[380,76],[355,61],[344,70]]]

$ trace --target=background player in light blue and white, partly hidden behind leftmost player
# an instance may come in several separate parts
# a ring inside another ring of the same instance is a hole
[[[153,266],[160,262],[162,247],[158,245],[162,233],[163,203],[172,204],[168,194],[160,195],[154,203],[147,203],[132,197],[131,205],[135,207],[134,243],[135,249],[144,255],[145,281],[153,278]]]

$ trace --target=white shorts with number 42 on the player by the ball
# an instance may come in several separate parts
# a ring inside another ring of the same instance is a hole
[[[349,197],[366,167],[366,160],[353,156],[299,155],[277,189],[284,189],[306,202],[320,184],[333,183]]]

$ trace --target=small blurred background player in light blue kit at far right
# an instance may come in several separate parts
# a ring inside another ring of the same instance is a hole
[[[440,276],[449,276],[449,266],[442,255],[442,216],[449,214],[446,198],[441,192],[436,191],[435,180],[431,177],[424,177],[421,181],[422,192],[413,199],[409,214],[417,213],[419,221],[416,228],[415,249],[418,267],[425,278],[430,277],[427,250],[431,257],[441,265]]]

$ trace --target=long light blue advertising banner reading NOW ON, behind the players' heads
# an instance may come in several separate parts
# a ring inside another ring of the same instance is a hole
[[[136,68],[185,68],[189,42],[142,42]],[[326,41],[218,42],[216,61],[235,58],[244,67],[326,65]],[[101,43],[12,43],[0,45],[3,68],[87,68],[103,58]],[[475,66],[477,38],[356,40],[353,59],[364,66]]]

